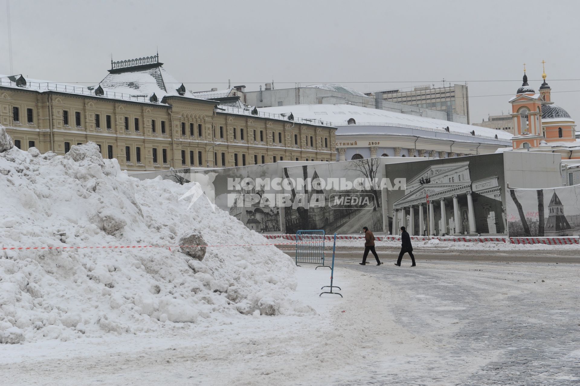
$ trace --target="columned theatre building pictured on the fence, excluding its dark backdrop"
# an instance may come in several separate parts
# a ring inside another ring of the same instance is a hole
[[[432,165],[407,180],[404,196],[393,202],[393,211],[409,207],[414,224],[417,206],[421,235],[425,232],[423,203],[427,193],[430,235],[505,233],[505,222],[500,215],[503,210],[499,178],[490,176],[472,182],[469,161]],[[414,227],[412,229],[415,232]]]

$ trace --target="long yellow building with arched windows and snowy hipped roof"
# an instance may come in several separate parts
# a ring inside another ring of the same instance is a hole
[[[161,66],[157,56],[115,62],[94,87],[0,77],[0,123],[20,149],[65,154],[92,141],[128,171],[336,159],[336,128],[220,107],[183,84],[173,91]],[[162,77],[150,92],[152,74]],[[114,87],[111,75],[124,84]]]

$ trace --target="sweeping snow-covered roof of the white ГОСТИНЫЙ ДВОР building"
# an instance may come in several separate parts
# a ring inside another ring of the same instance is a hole
[[[360,132],[362,125],[426,128],[441,132],[446,132],[445,128],[449,127],[449,132],[455,134],[471,135],[471,132],[475,131],[477,136],[485,138],[493,139],[497,135],[499,140],[512,140],[512,134],[501,130],[394,113],[392,111],[368,109],[367,107],[350,104],[299,104],[295,106],[263,107],[259,111],[273,114],[284,113],[286,115],[292,113],[296,117],[323,121],[324,124],[332,126],[352,127],[353,132]],[[350,119],[354,119],[356,124],[349,125],[348,121]]]

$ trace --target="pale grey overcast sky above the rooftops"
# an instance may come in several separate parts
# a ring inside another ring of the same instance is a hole
[[[527,63],[580,120],[578,1],[10,1],[14,73],[96,84],[154,55],[193,91],[332,82],[361,92],[467,81],[470,117],[509,110]],[[0,73],[10,72],[0,0]],[[477,82],[485,81],[485,82]],[[565,92],[574,91],[574,92]],[[488,96],[496,95],[496,96]]]

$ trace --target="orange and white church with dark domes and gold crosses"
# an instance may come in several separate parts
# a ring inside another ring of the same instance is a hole
[[[543,60],[542,64],[545,64]],[[509,100],[512,104],[510,115],[515,133],[512,138],[513,149],[554,151],[561,153],[563,159],[580,158],[580,142],[576,140],[575,121],[566,110],[552,102],[552,89],[546,82],[546,77],[544,67],[543,83],[536,92],[528,84],[524,64],[521,87]]]

